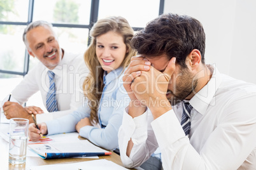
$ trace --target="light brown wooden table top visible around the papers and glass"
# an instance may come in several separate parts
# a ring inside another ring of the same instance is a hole
[[[1,127],[1,124],[0,124]],[[41,157],[27,157],[26,163],[21,166],[14,166],[8,163],[9,159],[9,143],[5,141],[0,136],[0,169],[1,170],[25,170],[25,167],[30,166],[41,166],[41,165],[50,165],[50,164],[68,164],[68,163],[75,163],[75,162],[82,162],[88,160],[95,160],[95,159],[85,159],[85,158],[64,158],[64,159],[42,159]],[[111,160],[112,162],[122,166],[122,161],[118,154],[112,152],[111,155],[106,156],[99,156],[99,159],[106,159]]]

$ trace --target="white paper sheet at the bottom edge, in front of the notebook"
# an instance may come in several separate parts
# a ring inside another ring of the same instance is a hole
[[[32,166],[28,168],[29,170],[55,170],[55,169],[62,169],[62,170],[77,170],[77,169],[94,169],[94,170],[125,170],[125,167],[119,166],[114,162],[106,159],[99,159],[99,160],[90,160],[85,162],[78,162],[74,164],[54,164],[54,165],[46,165],[46,166]]]

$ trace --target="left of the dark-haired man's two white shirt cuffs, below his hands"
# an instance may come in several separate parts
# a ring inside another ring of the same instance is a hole
[[[132,138],[134,145],[139,145],[146,140],[147,134],[148,109],[142,115],[134,117],[128,114],[128,107],[125,108],[122,126],[125,127],[125,136]],[[135,131],[136,129],[136,131]]]

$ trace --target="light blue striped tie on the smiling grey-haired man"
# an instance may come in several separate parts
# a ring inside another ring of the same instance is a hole
[[[55,89],[55,82],[54,82],[55,74],[50,70],[47,72],[47,74],[50,80],[50,87],[46,95],[46,107],[48,112],[56,112],[58,111],[58,107],[57,107],[56,89]]]

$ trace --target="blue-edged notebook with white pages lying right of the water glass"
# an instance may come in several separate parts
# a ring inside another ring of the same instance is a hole
[[[43,159],[92,157],[111,154],[111,152],[93,145],[88,140],[35,143],[29,144],[27,147],[31,148]]]

